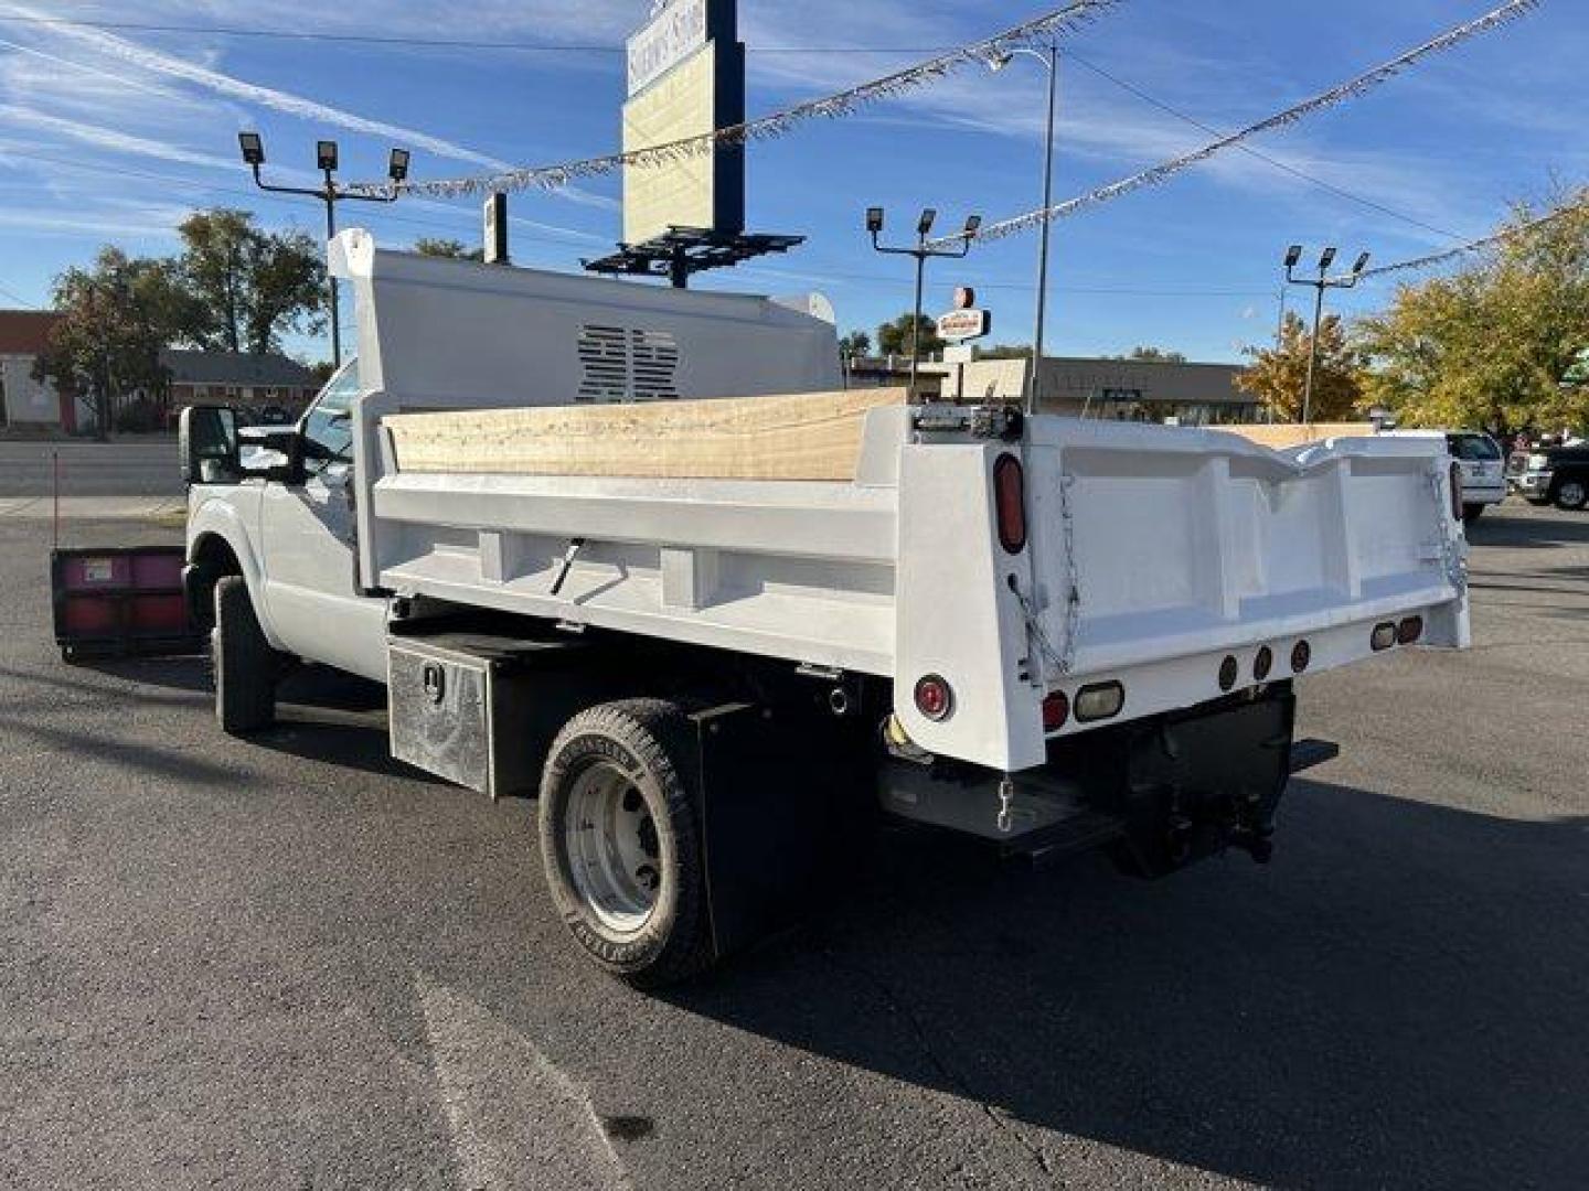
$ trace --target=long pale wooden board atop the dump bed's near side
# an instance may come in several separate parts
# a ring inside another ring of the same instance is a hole
[[[402,472],[855,480],[866,414],[904,389],[392,414]]]

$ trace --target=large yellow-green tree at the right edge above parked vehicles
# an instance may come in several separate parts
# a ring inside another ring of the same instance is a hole
[[[1359,324],[1368,400],[1403,426],[1511,434],[1589,422],[1589,389],[1573,383],[1589,348],[1589,187],[1546,210],[1519,203],[1505,227],[1517,233],[1451,276],[1401,286]]]

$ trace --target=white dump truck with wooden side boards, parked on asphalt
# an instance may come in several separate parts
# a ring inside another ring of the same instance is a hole
[[[216,710],[381,681],[391,751],[537,796],[637,983],[809,905],[882,808],[1163,875],[1268,861],[1298,680],[1468,645],[1444,445],[841,392],[820,306],[332,241],[359,353],[292,429],[183,422]],[[756,394],[767,394],[758,397]]]

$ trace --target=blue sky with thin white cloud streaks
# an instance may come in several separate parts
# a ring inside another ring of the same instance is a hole
[[[1065,198],[1208,140],[1088,67],[1181,113],[1238,127],[1478,16],[1500,0],[1123,0],[1065,46],[1057,197]],[[346,179],[415,151],[416,178],[550,164],[617,148],[620,46],[650,0],[0,0],[3,16],[296,30],[324,35],[534,43],[545,52],[459,51],[194,32],[84,30],[0,21],[0,305],[46,302],[64,267],[103,243],[175,249],[194,206],[316,229],[303,200],[253,192],[237,132],[265,135],[281,181],[311,181],[313,141],[342,143]],[[922,51],[987,37],[1044,3],[963,0],[742,0],[750,114],[887,73]],[[866,51],[866,52],[839,52]],[[1193,359],[1238,359],[1273,337],[1284,246],[1338,243],[1379,260],[1486,233],[1517,197],[1589,179],[1589,6],[1545,0],[1530,17],[1470,41],[1379,91],[1255,143],[1317,186],[1241,152],[1057,225],[1049,348],[1108,354],[1150,343]],[[798,232],[788,257],[706,284],[825,292],[841,327],[872,329],[910,302],[909,262],[877,257],[869,203],[896,230],[933,205],[945,221],[1038,206],[1042,71],[1020,60],[966,71],[836,122],[750,148],[752,230]],[[1363,202],[1340,195],[1346,191]],[[577,268],[618,237],[620,184],[601,178],[513,200],[515,260]],[[474,200],[348,205],[343,221],[383,243],[478,238]],[[1438,229],[1438,230],[1430,230]],[[977,248],[930,275],[931,310],[972,283],[999,340],[1030,340],[1038,241]],[[1387,284],[1341,295],[1371,310]],[[1306,300],[1297,291],[1293,303]],[[305,357],[323,345],[289,345]]]

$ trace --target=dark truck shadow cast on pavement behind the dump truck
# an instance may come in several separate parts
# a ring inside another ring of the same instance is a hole
[[[1160,883],[883,838],[818,931],[672,1000],[971,1100],[1034,1175],[1068,1134],[1276,1186],[1581,1185],[1589,819],[1314,783],[1282,815],[1271,867]]]

